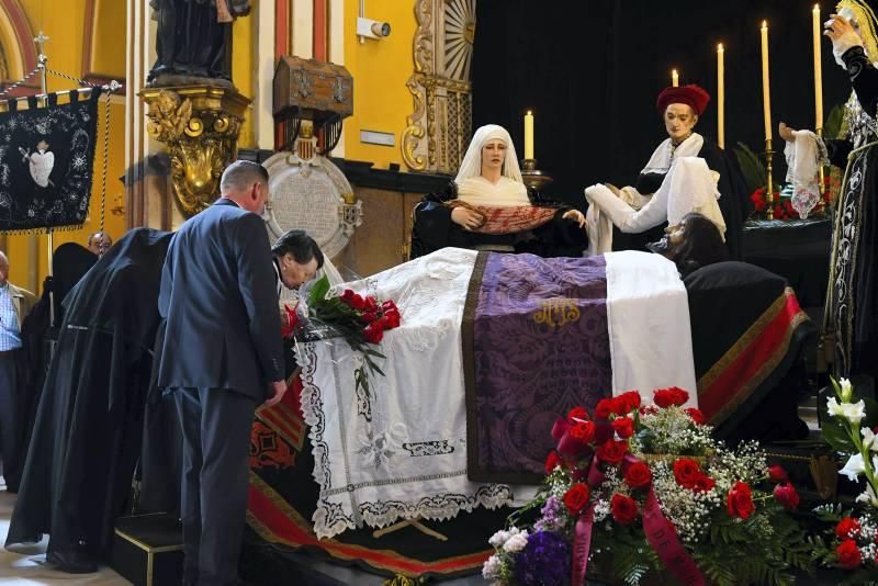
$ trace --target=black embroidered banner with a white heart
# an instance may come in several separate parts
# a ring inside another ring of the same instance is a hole
[[[79,100],[37,108],[36,98],[10,100],[0,113],[0,232],[81,227],[91,196],[94,136],[98,123],[95,88]]]

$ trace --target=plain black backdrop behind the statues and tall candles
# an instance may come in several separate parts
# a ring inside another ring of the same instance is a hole
[[[823,4],[825,20],[833,5]],[[473,127],[509,129],[518,156],[524,114],[549,193],[582,201],[598,181],[630,184],[666,137],[655,98],[671,84],[711,94],[697,131],[716,139],[717,43],[725,47],[725,146],[764,149],[759,25],[769,26],[775,148],[780,121],[813,128],[811,0],[480,0],[473,55]],[[849,84],[822,40],[824,115]],[[781,145],[783,146],[783,145]],[[786,166],[775,181],[781,181]]]

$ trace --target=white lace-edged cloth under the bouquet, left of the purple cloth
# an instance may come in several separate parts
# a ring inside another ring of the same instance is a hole
[[[393,298],[403,316],[380,345],[385,375],[370,376],[371,397],[354,392],[359,357],[347,343],[300,345],[318,538],[513,503],[511,487],[466,478],[460,324],[475,256],[446,248],[341,285]]]

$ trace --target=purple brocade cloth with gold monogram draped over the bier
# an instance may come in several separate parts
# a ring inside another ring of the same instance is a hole
[[[555,418],[609,394],[604,257],[480,253],[462,334],[470,480],[540,482]]]

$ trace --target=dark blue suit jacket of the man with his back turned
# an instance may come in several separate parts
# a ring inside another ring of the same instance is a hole
[[[262,219],[219,199],[175,234],[161,273],[158,386],[233,388],[261,402],[283,380],[281,322]]]

